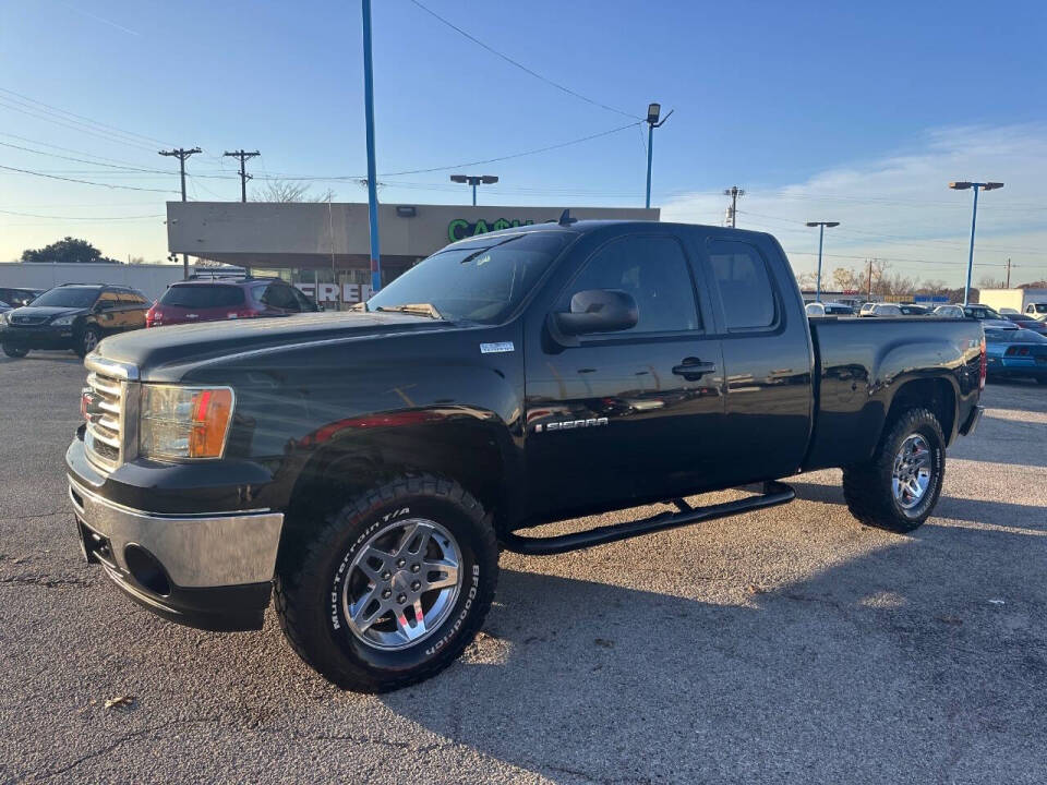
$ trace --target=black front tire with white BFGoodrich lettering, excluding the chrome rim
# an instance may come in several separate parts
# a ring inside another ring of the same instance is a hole
[[[338,581],[348,580],[346,565],[371,532],[418,516],[446,528],[457,541],[461,589],[449,615],[418,643],[375,649],[350,631],[336,597]],[[483,624],[497,578],[494,528],[480,503],[452,480],[402,475],[350,500],[308,534],[282,543],[274,596],[280,627],[305,664],[344,689],[385,692],[434,676],[461,654]]]

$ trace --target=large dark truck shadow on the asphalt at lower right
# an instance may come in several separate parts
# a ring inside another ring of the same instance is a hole
[[[660,591],[506,569],[462,661],[383,702],[557,781],[840,782],[872,765],[944,782],[965,754],[1023,780],[1009,729],[1039,727],[1047,701],[1047,592],[1021,578],[1043,566],[1036,536],[926,527],[768,588],[730,564]],[[699,547],[687,558],[717,559]]]

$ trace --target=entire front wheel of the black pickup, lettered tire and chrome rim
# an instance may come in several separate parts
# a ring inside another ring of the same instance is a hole
[[[401,476],[286,543],[276,607],[302,660],[339,687],[383,692],[447,667],[494,596],[498,551],[455,482]]]

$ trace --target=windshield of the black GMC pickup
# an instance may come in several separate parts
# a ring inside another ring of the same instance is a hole
[[[418,314],[431,305],[450,322],[497,324],[576,237],[566,231],[531,231],[448,245],[368,300],[366,310]]]

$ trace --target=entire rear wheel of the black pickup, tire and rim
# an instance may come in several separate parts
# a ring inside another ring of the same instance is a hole
[[[844,468],[843,495],[863,523],[908,532],[935,509],[944,474],[938,418],[927,409],[910,409],[888,423],[869,461]]]

